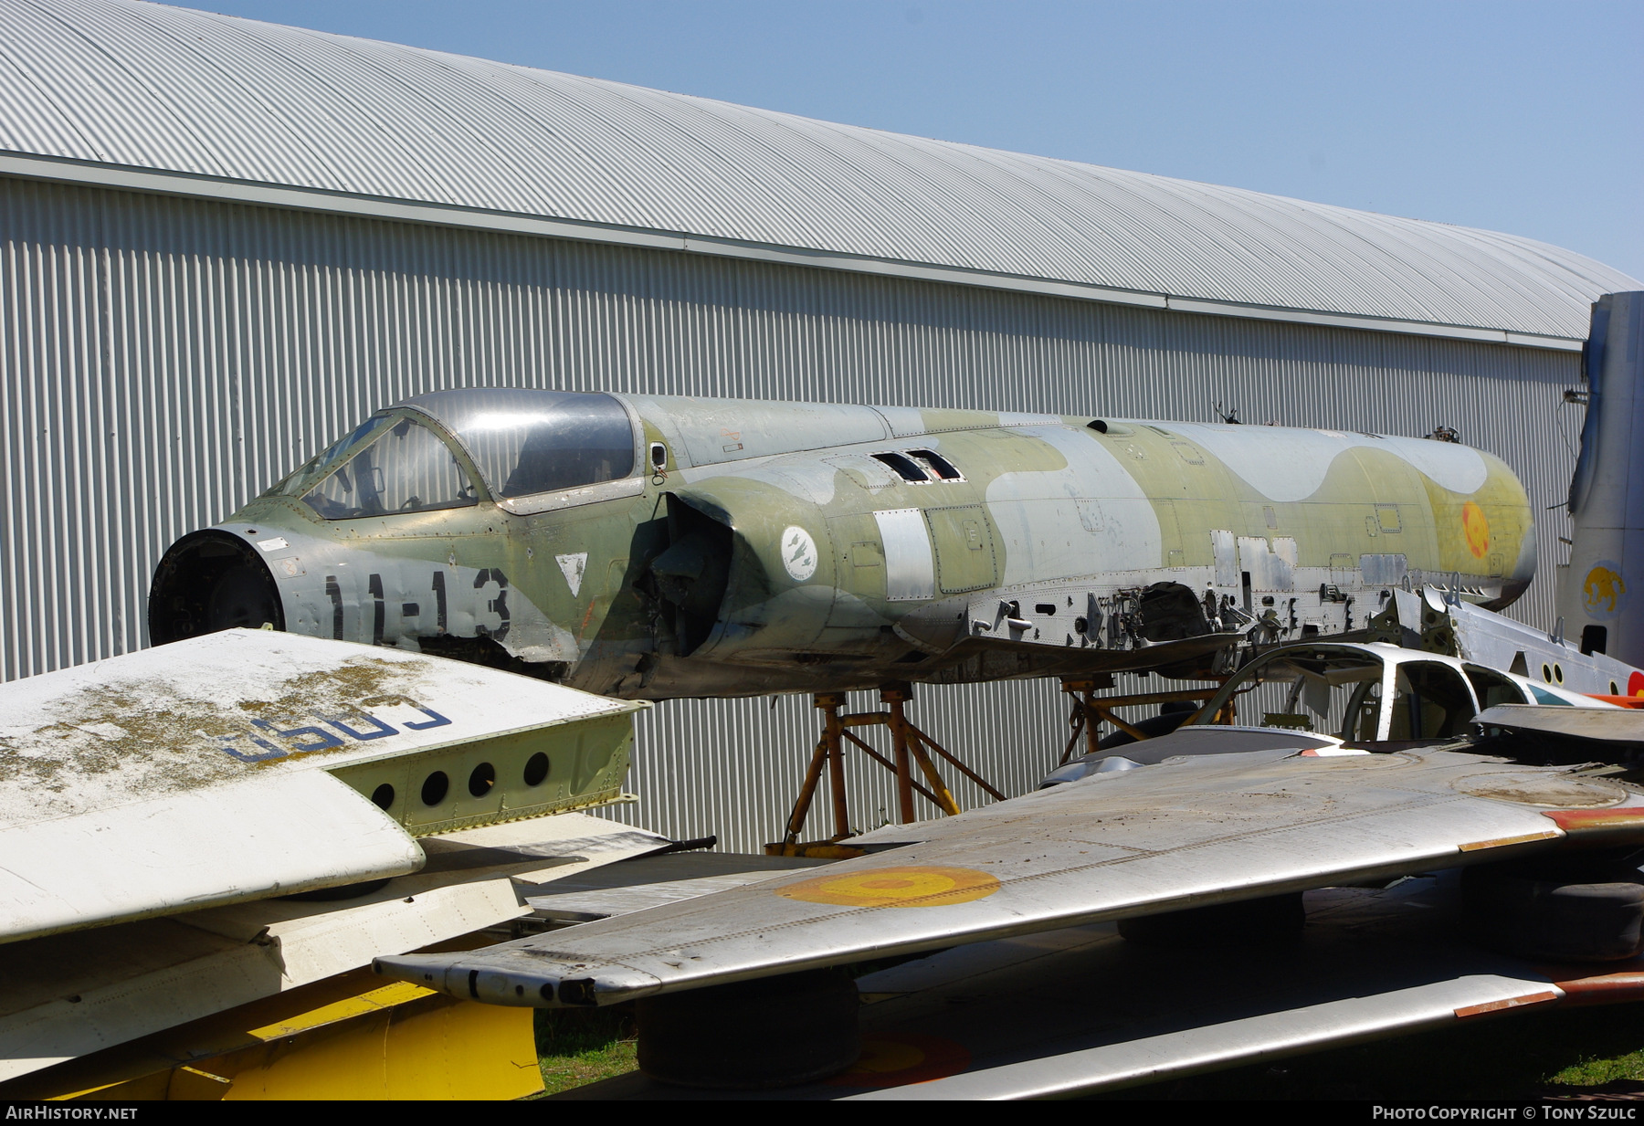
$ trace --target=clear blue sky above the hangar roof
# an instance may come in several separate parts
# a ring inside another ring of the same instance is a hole
[[[1644,278],[1639,0],[194,7],[1506,230]]]

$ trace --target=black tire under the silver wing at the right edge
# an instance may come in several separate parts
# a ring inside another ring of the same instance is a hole
[[[1529,958],[1616,962],[1644,950],[1644,883],[1626,868],[1483,865],[1462,873],[1462,911],[1483,945]]]

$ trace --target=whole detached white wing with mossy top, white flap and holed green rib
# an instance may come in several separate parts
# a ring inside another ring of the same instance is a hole
[[[0,942],[416,871],[616,797],[643,707],[263,630],[0,685]]]

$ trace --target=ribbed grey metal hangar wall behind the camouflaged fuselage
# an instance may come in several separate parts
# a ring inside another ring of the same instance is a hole
[[[1540,505],[1567,487],[1580,421],[1560,406],[1577,357],[1532,348],[16,179],[0,179],[0,233],[7,679],[143,644],[176,536],[378,406],[444,386],[1200,421],[1223,401],[1251,422],[1450,424]],[[1562,511],[1542,513],[1529,621],[1550,625],[1559,534]],[[914,715],[1011,792],[1064,740],[1044,682],[921,689]],[[641,730],[633,815],[738,848],[776,830],[815,738],[806,699],[674,702]],[[861,782],[860,820],[894,809],[886,781]]]

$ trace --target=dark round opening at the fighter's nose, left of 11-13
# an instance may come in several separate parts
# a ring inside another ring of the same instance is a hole
[[[225,531],[189,533],[171,544],[148,588],[155,644],[219,630],[286,628],[279,588],[248,542]]]

